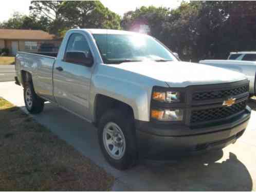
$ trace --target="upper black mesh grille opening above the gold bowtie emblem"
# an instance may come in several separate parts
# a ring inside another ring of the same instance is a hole
[[[229,96],[235,96],[235,95],[246,93],[248,92],[248,90],[249,90],[249,86],[246,85],[246,86],[242,86],[234,89],[197,92],[192,95],[192,100],[199,101],[199,100],[226,98]]]

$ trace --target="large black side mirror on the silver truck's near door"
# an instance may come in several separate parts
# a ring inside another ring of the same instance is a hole
[[[65,62],[76,63],[78,65],[84,65],[86,67],[92,67],[94,59],[90,54],[86,54],[82,51],[68,51],[65,54]]]

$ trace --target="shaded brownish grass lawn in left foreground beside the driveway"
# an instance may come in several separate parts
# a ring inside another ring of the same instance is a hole
[[[0,191],[109,190],[114,177],[0,98]]]

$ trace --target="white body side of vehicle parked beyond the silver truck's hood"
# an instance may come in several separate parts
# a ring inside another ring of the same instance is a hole
[[[250,97],[256,95],[256,61],[212,59],[200,60],[199,63],[245,74],[250,81]]]

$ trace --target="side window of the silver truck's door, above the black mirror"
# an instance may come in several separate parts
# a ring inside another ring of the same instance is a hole
[[[92,58],[92,53],[90,52],[90,48],[88,45],[87,40],[85,37],[79,33],[74,33],[70,35],[67,43],[67,48],[65,51],[65,59],[67,60],[66,57],[67,55],[70,56],[77,56],[77,54],[70,54],[70,53],[77,53],[77,52],[83,52],[85,54],[86,58]],[[75,59],[75,58],[74,58]],[[70,60],[70,58],[69,58]]]

